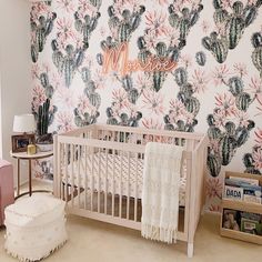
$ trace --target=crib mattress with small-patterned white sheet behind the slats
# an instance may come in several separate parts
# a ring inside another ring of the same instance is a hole
[[[78,175],[79,173],[79,175]],[[62,182],[98,192],[142,198],[143,159],[92,153],[61,169]],[[180,178],[179,204],[185,205],[184,177]]]

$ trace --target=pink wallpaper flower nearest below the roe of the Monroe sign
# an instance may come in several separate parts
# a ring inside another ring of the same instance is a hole
[[[143,103],[152,113],[158,115],[163,113],[163,95],[160,93],[152,90],[145,90],[143,92]]]

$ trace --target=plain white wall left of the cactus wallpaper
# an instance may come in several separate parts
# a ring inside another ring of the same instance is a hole
[[[0,0],[2,158],[12,163],[9,152],[13,115],[30,112],[30,6],[26,0]],[[26,172],[23,165],[23,178]]]

